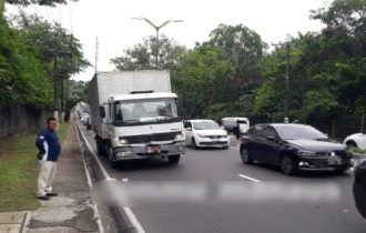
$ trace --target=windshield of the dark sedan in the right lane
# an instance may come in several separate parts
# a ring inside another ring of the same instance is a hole
[[[295,140],[295,139],[315,139],[322,140],[327,136],[321,131],[316,130],[311,125],[304,124],[284,124],[275,126],[278,135],[283,140]]]

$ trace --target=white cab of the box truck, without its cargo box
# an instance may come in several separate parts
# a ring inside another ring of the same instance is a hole
[[[112,163],[153,156],[177,163],[185,153],[176,94],[144,91],[111,95],[102,109],[110,139],[103,146]]]

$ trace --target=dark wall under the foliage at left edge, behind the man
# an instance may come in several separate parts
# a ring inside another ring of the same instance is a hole
[[[0,138],[37,133],[45,126],[51,111],[41,111],[27,105],[0,107]]]

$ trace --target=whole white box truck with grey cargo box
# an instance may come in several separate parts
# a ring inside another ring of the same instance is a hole
[[[98,72],[89,90],[98,153],[112,165],[154,156],[180,161],[185,136],[167,71]]]

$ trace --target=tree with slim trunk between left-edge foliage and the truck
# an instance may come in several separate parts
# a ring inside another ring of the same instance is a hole
[[[63,110],[64,80],[90,65],[83,58],[80,41],[59,23],[51,24],[35,14],[27,17],[21,13],[13,21],[28,42],[39,50],[39,59],[53,83],[54,107],[59,108],[60,98]]]

